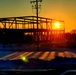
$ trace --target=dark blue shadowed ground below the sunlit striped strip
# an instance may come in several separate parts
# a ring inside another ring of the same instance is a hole
[[[28,62],[22,60],[0,60],[0,75],[22,75],[22,74],[41,74],[50,73],[60,75],[64,71],[76,69],[75,58],[60,58],[56,57],[51,61],[40,59],[29,59]],[[76,73],[75,73],[76,74]]]

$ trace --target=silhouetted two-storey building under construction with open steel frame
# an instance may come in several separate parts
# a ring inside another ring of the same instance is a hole
[[[60,28],[54,23],[58,21]],[[62,38],[65,33],[64,21],[36,16],[0,18],[0,42],[46,42]]]

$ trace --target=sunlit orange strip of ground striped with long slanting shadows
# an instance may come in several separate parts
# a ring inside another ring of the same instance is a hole
[[[7,54],[3,57],[0,58],[0,60],[18,60],[21,59],[21,57],[24,56],[26,58],[37,58],[37,59],[42,59],[42,60],[52,60],[56,56],[59,57],[66,57],[66,58],[76,58],[76,53],[70,52],[70,51],[31,51],[31,52],[13,52],[10,54]]]

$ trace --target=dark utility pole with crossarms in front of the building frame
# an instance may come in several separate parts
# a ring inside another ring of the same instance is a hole
[[[38,36],[38,13],[39,13],[39,10],[38,9],[41,9],[41,5],[39,5],[39,2],[41,3],[42,0],[30,1],[30,3],[32,4],[32,9],[36,9],[36,16],[37,16],[37,50],[39,50],[39,36]]]

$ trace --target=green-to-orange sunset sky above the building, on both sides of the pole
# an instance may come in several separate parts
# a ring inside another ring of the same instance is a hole
[[[31,0],[0,0],[0,17],[35,16]],[[43,0],[39,16],[65,21],[65,30],[76,29],[76,0]]]

